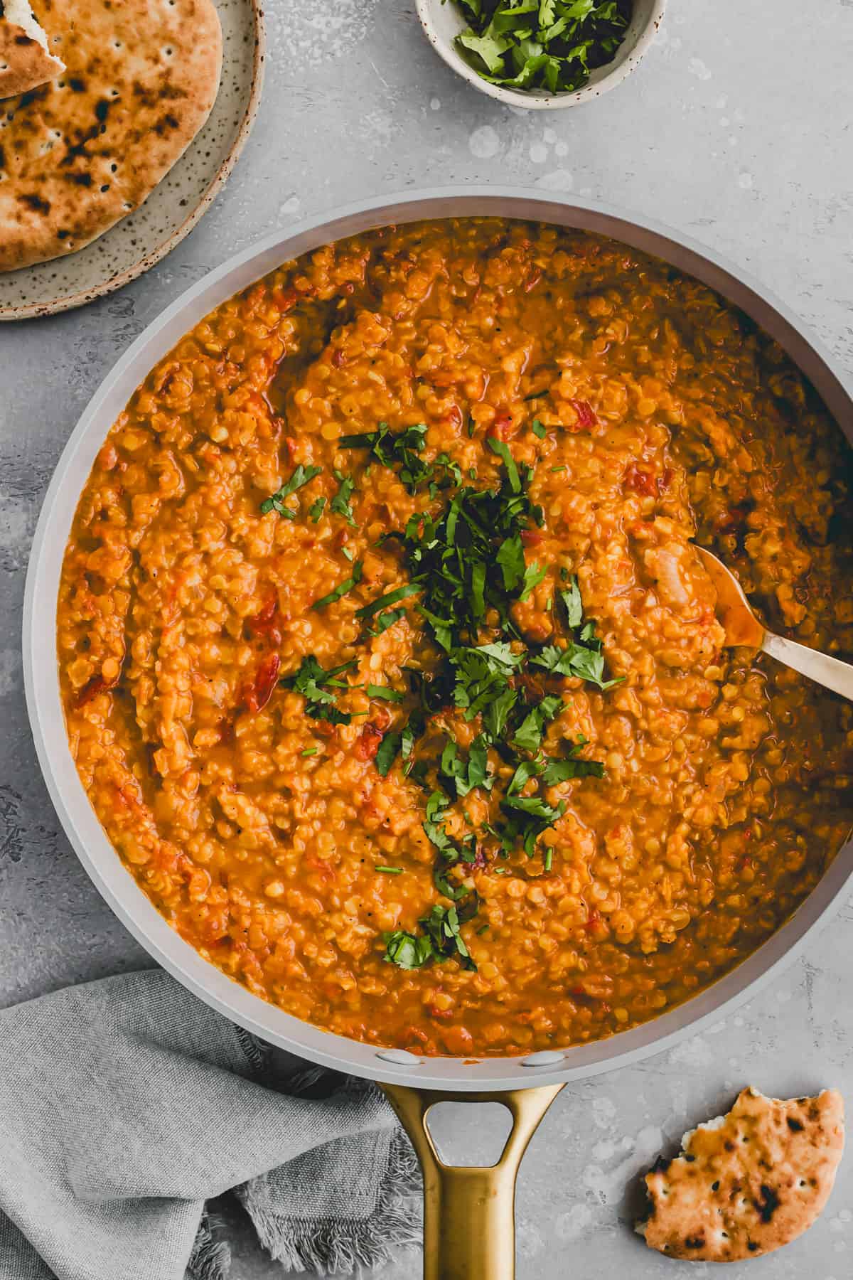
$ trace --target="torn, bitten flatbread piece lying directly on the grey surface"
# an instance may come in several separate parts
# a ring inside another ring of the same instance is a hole
[[[788,1244],[817,1219],[844,1151],[844,1102],[744,1089],[728,1115],[684,1134],[682,1155],[646,1174],[637,1230],[670,1258],[740,1262]]]

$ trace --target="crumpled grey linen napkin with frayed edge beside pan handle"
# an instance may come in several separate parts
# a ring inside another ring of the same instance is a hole
[[[0,1280],[224,1280],[229,1188],[286,1267],[352,1274],[417,1240],[416,1185],[379,1089],[294,1087],[161,970],[0,1012]]]

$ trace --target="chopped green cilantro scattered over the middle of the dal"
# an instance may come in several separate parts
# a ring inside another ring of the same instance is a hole
[[[540,439],[546,435],[538,419],[533,420],[533,433]],[[476,489],[463,484],[460,468],[446,454],[432,462],[422,458],[426,434],[423,424],[398,433],[380,424],[376,431],[343,436],[339,445],[370,449],[371,460],[393,466],[411,493],[427,489],[434,499],[440,488],[454,486],[440,513],[435,508],[416,511],[403,531],[384,535],[381,543],[393,540],[400,547],[408,581],[362,605],[356,616],[368,625],[367,635],[379,636],[403,617],[411,617],[411,605],[402,604],[418,596],[416,611],[440,650],[437,660],[428,660],[426,668],[421,666],[421,655],[416,666],[405,668],[413,707],[402,726],[382,735],[375,767],[386,777],[399,758],[402,778],[431,792],[423,832],[435,851],[435,888],[450,905],[432,906],[413,932],[386,934],[385,959],[403,969],[450,957],[473,968],[460,925],[478,909],[478,896],[472,888],[474,868],[490,867],[495,874],[512,874],[510,854],[522,847],[533,856],[542,832],[565,812],[567,800],[554,799],[551,788],[604,774],[600,762],[579,758],[586,745],[583,739],[559,758],[542,753],[549,723],[567,705],[555,691],[559,686],[551,682],[547,691],[550,677],[581,677],[599,689],[609,689],[616,681],[605,678],[604,646],[595,623],[584,620],[577,577],[559,563],[526,559],[524,543],[535,539],[523,535],[531,525],[544,524],[542,511],[528,493],[532,468],[517,462],[503,440],[487,438],[489,448],[503,463],[500,480],[489,489]],[[350,504],[354,481],[339,471],[335,476],[339,489],[331,509],[354,524]],[[304,476],[303,483],[307,483]],[[312,518],[315,509],[318,518],[324,509],[320,499],[311,507]],[[541,648],[526,641],[522,616],[517,622],[514,605],[526,600],[549,573],[558,582],[552,593],[549,589],[544,608],[552,612],[558,641]],[[352,576],[313,608],[339,600],[361,579],[362,561],[357,561]],[[349,687],[335,677],[354,664],[324,671],[315,658],[306,658],[284,684],[304,695],[306,714],[347,724],[356,714],[370,714],[339,712],[335,705],[335,690]],[[540,668],[536,678],[532,668]],[[407,698],[404,690],[387,685],[364,687],[368,698],[386,703],[399,704]],[[446,718],[435,718],[442,712],[455,712],[464,721],[476,722],[473,736],[464,736],[467,745],[442,727]],[[304,754],[316,751],[312,748]],[[503,772],[505,777],[505,768],[495,773],[496,759],[512,771],[501,791],[499,776]],[[451,806],[474,791],[480,803],[463,810],[466,827],[459,833],[454,820],[460,819]],[[492,792],[495,800],[490,801]],[[491,805],[494,826],[483,820],[482,804]],[[500,817],[495,818],[495,813]],[[448,827],[455,832],[453,836]],[[480,842],[489,837],[494,844],[483,849]],[[505,868],[494,865],[496,855],[508,860]],[[552,858],[546,849],[542,855],[546,870]],[[403,868],[380,865],[376,870],[402,874]]]

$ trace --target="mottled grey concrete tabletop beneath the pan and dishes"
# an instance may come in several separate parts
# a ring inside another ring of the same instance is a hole
[[[747,265],[853,372],[853,4],[669,0],[660,38],[613,95],[508,110],[421,36],[412,0],[269,0],[256,131],[200,228],[157,269],[82,311],[0,326],[0,1001],[147,963],[88,883],[47,800],[24,710],[19,627],[29,540],[68,433],[110,365],[234,250],[344,200],[430,183],[519,182],[604,198]],[[629,1230],[630,1184],[661,1143],[746,1083],[853,1102],[853,900],[760,1001],[670,1053],[567,1089],[518,1193],[519,1280],[679,1265]],[[473,1139],[471,1112],[458,1132]],[[284,1272],[234,1217],[234,1280]],[[692,1263],[689,1275],[710,1267]],[[682,1268],[684,1270],[684,1268]],[[853,1274],[853,1155],[806,1238],[730,1280]],[[416,1257],[382,1280],[416,1280]],[[373,1280],[380,1280],[375,1274]]]

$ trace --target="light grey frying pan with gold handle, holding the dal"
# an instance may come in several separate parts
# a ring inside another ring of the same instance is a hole
[[[178,298],[119,360],[77,424],[50,483],[29,561],[23,622],[24,682],[36,750],[65,833],[97,890],[155,960],[226,1018],[301,1057],[367,1076],[385,1088],[423,1166],[427,1280],[513,1280],[515,1171],[527,1142],[561,1085],[657,1053],[755,996],[783,963],[802,951],[808,937],[849,892],[853,872],[850,842],[794,916],[758,951],[693,1000],[642,1027],[592,1044],[471,1062],[377,1050],[320,1030],[266,1004],[202,960],[159,915],[121,865],[90,806],[68,749],[55,649],[63,552],[97,449],[156,361],[208,311],[280,262],[372,227],[478,214],[611,236],[702,280],[785,348],[853,444],[850,389],[829,355],[765,288],[680,234],[605,205],[542,198],[528,188],[444,188],[367,201],[299,223],[286,234],[269,236],[238,253]],[[430,1106],[448,1098],[497,1101],[509,1107],[514,1126],[495,1167],[451,1169],[441,1164],[425,1117]]]

